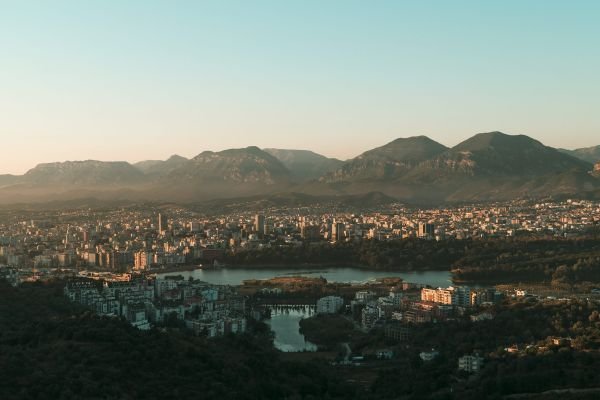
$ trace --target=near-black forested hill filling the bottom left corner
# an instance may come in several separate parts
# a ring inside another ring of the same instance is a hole
[[[283,362],[268,333],[141,332],[67,302],[63,283],[0,281],[0,399],[353,399],[326,365]]]

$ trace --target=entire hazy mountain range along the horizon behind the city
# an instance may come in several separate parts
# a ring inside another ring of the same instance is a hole
[[[411,203],[597,196],[600,177],[591,171],[600,161],[599,149],[555,149],[528,136],[487,132],[451,148],[426,136],[400,138],[347,161],[258,147],[135,164],[67,161],[40,164],[20,176],[0,175],[0,203],[78,198],[191,203],[282,193]]]

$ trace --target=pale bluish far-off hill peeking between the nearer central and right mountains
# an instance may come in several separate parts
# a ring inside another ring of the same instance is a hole
[[[327,158],[309,150],[264,149],[285,165],[299,181],[318,179],[344,164],[335,158]]]

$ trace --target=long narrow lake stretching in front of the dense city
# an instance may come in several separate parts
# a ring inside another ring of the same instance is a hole
[[[407,282],[430,285],[433,287],[447,287],[452,284],[449,271],[424,271],[424,272],[395,272],[395,271],[370,271],[360,268],[218,268],[197,269],[195,271],[182,271],[163,273],[165,275],[182,275],[186,279],[190,276],[214,285],[241,285],[247,279],[269,279],[278,276],[308,276],[327,279],[328,282],[361,283],[377,278],[398,277]]]

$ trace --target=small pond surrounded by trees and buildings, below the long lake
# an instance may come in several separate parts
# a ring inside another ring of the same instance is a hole
[[[275,348],[285,352],[317,351],[314,343],[300,333],[300,320],[310,316],[307,310],[273,310],[271,319],[265,322],[275,333]]]

